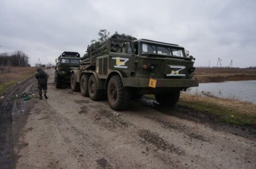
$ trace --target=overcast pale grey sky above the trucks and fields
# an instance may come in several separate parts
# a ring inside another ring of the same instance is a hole
[[[1,0],[0,52],[22,50],[32,65],[63,51],[83,55],[100,29],[176,43],[195,66],[256,66],[256,1]]]

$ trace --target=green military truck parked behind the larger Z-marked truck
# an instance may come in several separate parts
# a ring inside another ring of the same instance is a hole
[[[70,72],[79,68],[80,54],[78,52],[63,52],[56,59],[54,72],[54,83],[56,88],[61,88],[63,84],[70,83]]]

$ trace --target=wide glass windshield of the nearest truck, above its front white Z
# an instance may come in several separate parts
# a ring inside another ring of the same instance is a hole
[[[184,49],[150,43],[142,43],[142,54],[159,54],[184,57]]]

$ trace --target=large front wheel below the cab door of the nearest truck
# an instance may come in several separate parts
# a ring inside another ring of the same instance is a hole
[[[130,102],[130,92],[127,87],[123,87],[122,79],[119,75],[113,75],[108,83],[108,103],[114,110],[125,110]]]

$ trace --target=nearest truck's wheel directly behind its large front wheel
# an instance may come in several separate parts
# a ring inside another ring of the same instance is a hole
[[[95,76],[92,74],[88,81],[88,93],[92,100],[101,100],[103,98],[103,90],[97,90],[97,81]]]

